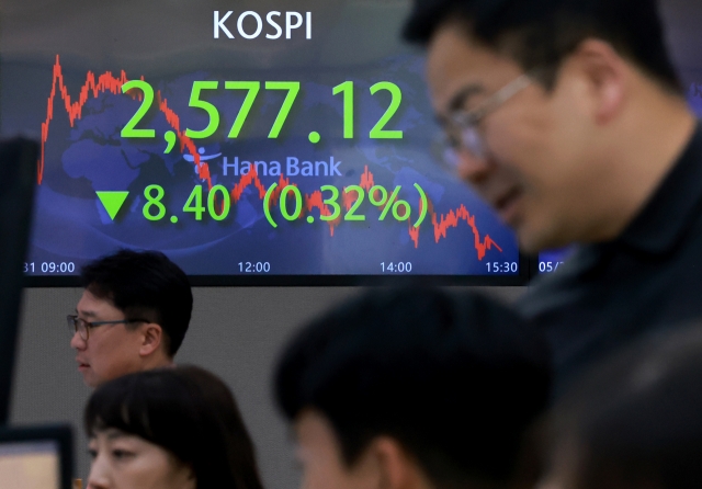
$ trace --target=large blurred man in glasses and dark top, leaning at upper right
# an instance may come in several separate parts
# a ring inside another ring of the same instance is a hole
[[[656,0],[416,0],[405,37],[427,47],[446,161],[523,251],[576,244],[518,304],[558,388],[702,316],[702,130]]]

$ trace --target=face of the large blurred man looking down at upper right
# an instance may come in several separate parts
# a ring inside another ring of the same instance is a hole
[[[563,73],[564,69],[561,70]],[[444,24],[428,50],[427,72],[440,121],[469,111],[522,75],[521,68]],[[528,252],[582,238],[585,205],[596,175],[588,161],[588,121],[574,103],[574,77],[551,93],[536,82],[489,112],[479,124],[485,153],[458,150],[458,174],[512,227]],[[565,86],[565,87],[564,87]],[[589,169],[588,169],[589,168]]]

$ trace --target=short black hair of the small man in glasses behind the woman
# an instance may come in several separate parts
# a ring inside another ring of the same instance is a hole
[[[166,353],[176,355],[190,323],[193,293],[185,273],[168,257],[159,251],[120,250],[87,264],[80,276],[83,287],[110,300],[127,319],[160,325]]]

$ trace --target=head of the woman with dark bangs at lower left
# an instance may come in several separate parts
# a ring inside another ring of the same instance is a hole
[[[156,368],[105,383],[83,421],[89,489],[262,489],[236,401],[202,368]]]

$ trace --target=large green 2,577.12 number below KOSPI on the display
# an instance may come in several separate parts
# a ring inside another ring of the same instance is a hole
[[[281,106],[278,116],[273,122],[273,126],[268,134],[269,138],[275,139],[281,134],[281,129],[283,128],[283,125],[285,124],[285,121],[287,120],[287,116],[295,103],[297,94],[299,93],[299,81],[265,81],[263,83],[263,87],[265,90],[286,91],[285,99],[283,100],[283,105]],[[253,102],[256,101],[261,90],[261,82],[225,81],[224,88],[225,90],[246,91],[246,98],[244,99],[241,109],[239,110],[239,113],[237,114],[234,124],[229,129],[229,134],[227,135],[228,138],[237,138],[239,137],[241,128],[244,127],[244,124],[246,123],[246,120],[251,112]],[[218,89],[219,81],[216,80],[203,80],[193,82],[193,88],[190,93],[189,106],[205,111],[208,116],[208,123],[202,129],[186,128],[185,136],[188,136],[189,138],[206,138],[215,134],[215,132],[219,128],[220,117],[218,109],[211,102],[203,100],[203,94],[206,91]],[[141,92],[141,105],[124,126],[121,132],[121,136],[125,138],[154,138],[156,137],[156,132],[154,129],[144,129],[136,127],[137,124],[144,118],[144,116],[146,116],[151,105],[154,104],[154,88],[145,80],[131,80],[122,86],[123,93],[136,90]],[[382,90],[390,93],[390,104],[385,110],[383,116],[377,121],[373,128],[371,128],[369,136],[371,137],[371,139],[401,139],[401,130],[386,129],[385,126],[399,109],[403,100],[403,92],[400,91],[399,87],[390,81],[378,81],[370,88],[371,95],[374,95]],[[342,95],[343,137],[346,139],[351,139],[353,138],[353,81],[344,81],[343,83],[333,87],[331,93],[335,95]],[[132,94],[134,95],[135,93],[132,92]],[[315,141],[313,140],[313,143]]]

